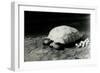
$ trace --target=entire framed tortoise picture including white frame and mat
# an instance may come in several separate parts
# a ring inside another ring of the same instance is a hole
[[[98,61],[96,8],[12,3],[11,69],[87,67]]]

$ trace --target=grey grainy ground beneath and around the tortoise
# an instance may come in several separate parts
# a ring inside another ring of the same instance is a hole
[[[90,57],[90,46],[84,48],[51,49],[43,46],[45,36],[31,36],[24,39],[24,61],[47,61],[63,59],[87,59]]]

